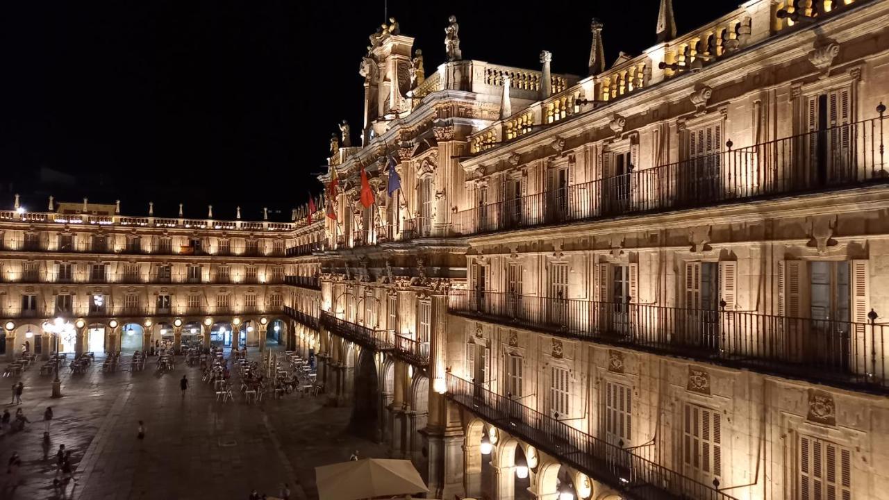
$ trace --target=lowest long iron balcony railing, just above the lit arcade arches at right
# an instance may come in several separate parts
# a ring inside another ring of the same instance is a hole
[[[734,500],[733,496],[525,407],[484,386],[447,374],[447,397],[489,423],[571,464],[636,500]]]

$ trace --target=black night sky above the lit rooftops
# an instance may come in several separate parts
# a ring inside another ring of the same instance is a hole
[[[680,34],[740,0],[675,0]],[[654,44],[658,0],[503,3],[390,0],[423,50],[427,75],[445,60],[444,28],[460,23],[464,59],[585,75],[589,20],[605,23],[605,58]],[[518,9],[520,5],[533,8]],[[287,220],[321,185],[343,118],[359,141],[367,36],[383,0],[5,2],[0,9],[0,208],[57,200],[122,200],[124,214]],[[36,181],[40,172],[68,181]],[[35,184],[36,182],[36,184]]]

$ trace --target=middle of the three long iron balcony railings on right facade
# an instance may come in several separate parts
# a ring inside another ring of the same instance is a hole
[[[889,391],[886,325],[477,291],[449,302],[454,313],[501,325]]]

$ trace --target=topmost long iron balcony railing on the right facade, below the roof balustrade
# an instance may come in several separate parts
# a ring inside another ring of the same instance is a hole
[[[883,114],[861,122],[694,157],[653,168],[628,165],[597,181],[453,214],[457,235],[515,230],[889,181]],[[618,168],[613,165],[613,168]]]

